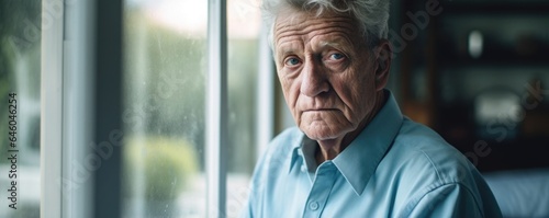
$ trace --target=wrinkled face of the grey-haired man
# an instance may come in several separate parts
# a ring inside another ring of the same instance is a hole
[[[278,77],[300,129],[314,140],[356,130],[379,90],[377,58],[357,23],[340,14],[287,11],[273,31]]]

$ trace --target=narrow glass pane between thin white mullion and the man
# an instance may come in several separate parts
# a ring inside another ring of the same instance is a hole
[[[257,149],[256,95],[259,62],[259,0],[227,1],[228,173],[227,217],[246,203]]]

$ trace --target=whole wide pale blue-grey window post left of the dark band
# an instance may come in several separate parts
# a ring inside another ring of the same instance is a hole
[[[41,217],[93,215],[93,172],[81,168],[93,140],[93,13],[92,1],[43,0]]]

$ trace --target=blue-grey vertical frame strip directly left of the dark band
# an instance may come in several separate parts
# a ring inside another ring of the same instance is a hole
[[[93,3],[78,1],[65,4],[64,44],[64,123],[63,123],[63,217],[91,218],[93,202],[92,156]],[[85,145],[85,146],[82,146]]]

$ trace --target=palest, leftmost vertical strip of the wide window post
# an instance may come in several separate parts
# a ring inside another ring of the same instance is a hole
[[[42,14],[61,0],[43,1]],[[42,19],[41,217],[61,217],[63,9]],[[46,23],[49,22],[49,23]]]

